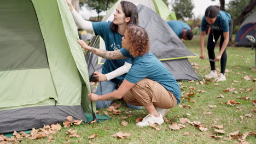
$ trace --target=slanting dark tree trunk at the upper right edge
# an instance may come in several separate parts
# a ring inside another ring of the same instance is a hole
[[[242,21],[244,20],[245,15],[250,13],[254,9],[255,5],[256,5],[256,0],[250,0],[249,4],[245,7],[245,9],[243,9],[240,16],[238,16],[238,17],[236,17],[236,19],[234,19],[234,21],[233,21],[233,32],[234,32],[235,27],[242,23]],[[231,35],[231,38],[230,38],[230,42],[232,43],[232,35]]]

